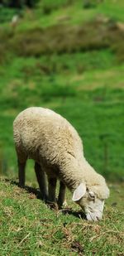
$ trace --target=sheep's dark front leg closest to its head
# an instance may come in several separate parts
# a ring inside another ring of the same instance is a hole
[[[58,197],[59,208],[62,208],[63,205],[66,205],[65,189],[66,189],[66,186],[64,185],[64,183],[62,181],[60,181],[60,192],[59,192],[59,197]]]

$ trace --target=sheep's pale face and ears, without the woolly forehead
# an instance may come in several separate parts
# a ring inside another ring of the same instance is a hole
[[[107,196],[109,191],[107,189]],[[99,199],[97,194],[90,191],[81,183],[74,191],[73,200],[83,209],[87,220],[101,220],[103,216],[104,199]]]

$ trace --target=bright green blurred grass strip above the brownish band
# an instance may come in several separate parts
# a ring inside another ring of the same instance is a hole
[[[95,1],[93,1],[95,2]],[[97,1],[96,1],[97,2]],[[94,17],[110,17],[113,20],[124,22],[123,16],[124,2],[122,0],[107,0],[88,9],[83,8],[82,1],[40,1],[35,12],[21,11],[21,21],[17,26],[17,31],[26,31],[36,27],[50,27],[52,25],[82,24],[91,21]],[[17,11],[18,12],[18,11]],[[8,9],[0,9],[1,24],[8,26],[15,12]],[[32,15],[34,14],[34,15]]]

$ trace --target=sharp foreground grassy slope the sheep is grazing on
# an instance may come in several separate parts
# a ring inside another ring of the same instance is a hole
[[[78,213],[79,207],[71,203],[70,194],[68,213],[50,210],[35,194],[2,180],[0,254],[123,255],[122,186],[111,186],[111,192],[103,220],[91,223]]]

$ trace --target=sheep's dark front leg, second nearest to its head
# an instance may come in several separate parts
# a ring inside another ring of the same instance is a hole
[[[48,177],[48,200],[50,202],[56,202],[55,189],[56,189],[56,178]]]

